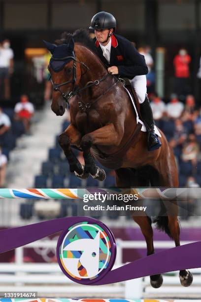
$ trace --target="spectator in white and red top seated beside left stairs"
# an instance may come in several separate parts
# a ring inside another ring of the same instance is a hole
[[[20,102],[14,108],[15,119],[22,120],[26,133],[30,131],[30,122],[34,114],[33,104],[29,102],[26,94],[21,95]]]

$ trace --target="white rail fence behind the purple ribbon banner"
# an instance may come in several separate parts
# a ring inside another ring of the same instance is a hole
[[[193,241],[182,241],[181,244]],[[117,258],[114,268],[123,263],[123,250],[146,248],[145,241],[116,240]],[[191,270],[194,274],[193,285],[184,288],[180,285],[178,272],[174,275],[166,274],[164,284],[160,289],[150,286],[149,277],[119,282],[113,285],[84,286],[72,282],[61,271],[59,264],[54,263],[24,263],[24,249],[46,248],[56,250],[56,240],[39,240],[15,250],[15,263],[0,264],[0,292],[2,291],[36,291],[38,296],[57,297],[99,297],[140,299],[151,297],[200,297],[201,296],[201,268]],[[156,248],[174,247],[172,241],[155,241]]]

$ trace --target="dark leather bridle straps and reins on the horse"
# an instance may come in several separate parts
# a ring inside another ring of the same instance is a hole
[[[62,97],[65,99],[65,101],[67,102],[67,104],[69,105],[69,102],[68,102],[68,99],[71,99],[73,96],[75,95],[78,95],[80,91],[83,91],[87,88],[90,88],[90,87],[93,87],[93,86],[96,86],[96,85],[99,85],[100,82],[102,82],[104,79],[106,79],[108,76],[111,76],[110,74],[107,74],[106,76],[103,76],[102,78],[100,79],[97,79],[95,81],[90,81],[88,82],[84,87],[82,88],[79,88],[78,87],[75,87],[75,82],[76,82],[76,63],[79,63],[81,64],[82,66],[84,66],[86,68],[86,72],[84,74],[82,74],[81,76],[85,75],[90,69],[89,67],[83,63],[83,62],[80,62],[78,61],[76,58],[75,58],[75,55],[74,55],[74,52],[73,52],[73,56],[67,56],[67,57],[63,57],[63,58],[54,58],[52,56],[52,59],[55,60],[55,61],[64,61],[64,60],[67,60],[67,59],[72,59],[73,60],[73,66],[72,66],[72,79],[67,81],[67,82],[64,82],[64,83],[61,83],[61,84],[56,84],[53,82],[52,78],[50,77],[51,79],[51,82],[52,82],[52,87],[53,87],[53,90],[54,91],[59,91],[62,95]],[[105,90],[97,99],[95,99],[94,101],[90,102],[90,103],[83,103],[82,101],[79,101],[78,102],[78,106],[79,106],[79,109],[81,111],[86,111],[88,110],[92,104],[96,103],[103,95],[105,95],[116,83],[118,83],[120,81],[119,78],[117,78],[117,80],[107,89]],[[70,92],[67,92],[67,93],[64,93],[62,92],[62,90],[60,89],[60,87],[64,86],[64,85],[67,85],[69,83],[73,83],[73,88]],[[69,105],[70,106],[70,105]]]

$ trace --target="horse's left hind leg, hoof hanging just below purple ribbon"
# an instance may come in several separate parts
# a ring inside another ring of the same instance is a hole
[[[145,168],[145,170],[147,170]],[[141,170],[141,173],[136,174],[134,169],[120,168],[115,170],[116,184],[118,187],[148,187],[148,178]],[[154,254],[153,244],[153,229],[151,226],[151,219],[145,212],[140,212],[137,216],[133,215],[133,220],[140,227],[142,234],[146,240],[147,256]],[[163,276],[156,274],[150,276],[151,286],[159,288],[163,284]]]

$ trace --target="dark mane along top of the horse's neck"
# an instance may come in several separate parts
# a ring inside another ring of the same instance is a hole
[[[55,43],[57,45],[68,44],[70,38],[73,38],[75,42],[83,44],[94,51],[94,41],[92,38],[90,38],[89,31],[86,29],[78,29],[72,34],[64,32],[61,35],[61,38],[56,40]]]

